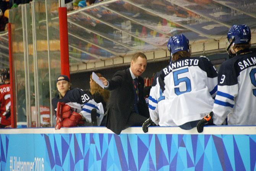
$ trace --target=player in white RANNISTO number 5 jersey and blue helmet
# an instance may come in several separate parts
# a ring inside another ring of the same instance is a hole
[[[152,85],[150,117],[160,126],[191,129],[212,110],[217,71],[206,57],[190,58],[189,41],[182,34],[170,37],[167,47],[172,62],[156,77],[156,85]],[[144,128],[152,123],[151,119]]]

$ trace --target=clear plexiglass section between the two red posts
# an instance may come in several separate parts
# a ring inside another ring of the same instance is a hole
[[[58,2],[50,0],[10,10],[18,125],[52,125],[50,99],[56,96],[60,75],[57,16]]]

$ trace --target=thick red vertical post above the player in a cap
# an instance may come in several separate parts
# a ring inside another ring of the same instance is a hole
[[[59,26],[60,26],[60,64],[61,74],[70,78],[69,53],[68,53],[68,18],[66,7],[59,7]]]

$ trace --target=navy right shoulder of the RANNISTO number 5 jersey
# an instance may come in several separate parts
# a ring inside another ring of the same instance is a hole
[[[208,78],[217,77],[217,71],[212,65],[212,62],[206,56],[200,56],[198,66],[200,69],[206,72]]]

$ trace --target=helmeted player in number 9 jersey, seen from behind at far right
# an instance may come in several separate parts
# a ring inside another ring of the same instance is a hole
[[[256,50],[250,46],[250,27],[233,25],[227,34],[231,59],[221,64],[218,73],[212,110],[215,125],[222,125],[226,118],[228,125],[256,125]],[[203,131],[207,123],[204,120],[198,125],[198,132]]]

